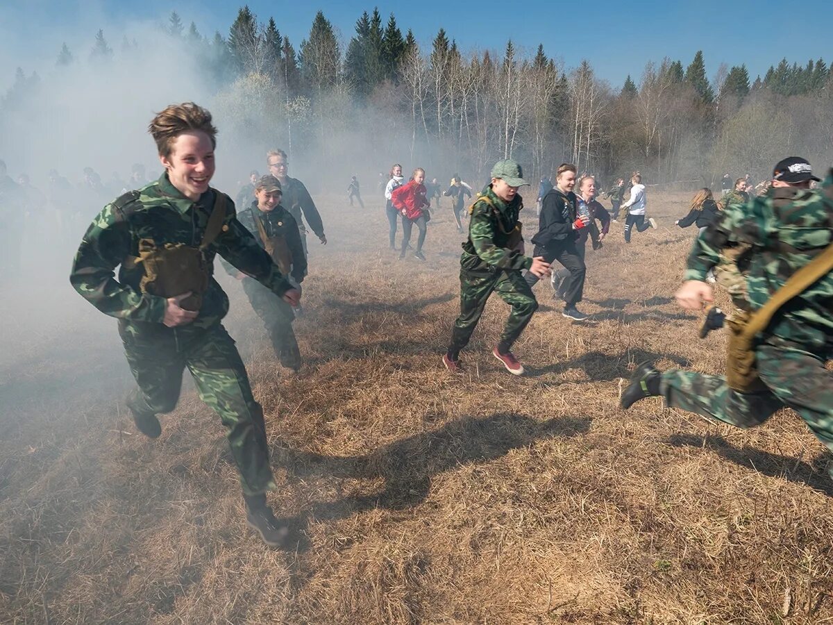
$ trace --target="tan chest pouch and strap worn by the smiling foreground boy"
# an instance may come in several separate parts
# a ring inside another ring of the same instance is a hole
[[[136,192],[135,198],[138,198]],[[191,292],[184,298],[180,308],[193,312],[202,307],[202,295],[208,290],[209,273],[205,251],[217,238],[226,218],[226,196],[216,192],[214,208],[208,218],[202,242],[198,248],[185,243],[162,243],[142,238],[138,243],[138,256],[129,256],[122,261],[126,268],[141,264],[145,275],[139,282],[142,293],[161,298],[174,298]]]

